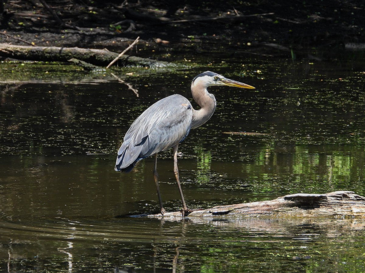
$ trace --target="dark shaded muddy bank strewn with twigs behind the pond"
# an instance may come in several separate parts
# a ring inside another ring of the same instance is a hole
[[[273,48],[280,52],[280,46],[345,48],[365,42],[362,1],[47,3],[55,14],[39,1],[7,1],[0,43],[119,52],[141,36],[139,47],[130,54],[161,58],[174,51],[269,54]]]

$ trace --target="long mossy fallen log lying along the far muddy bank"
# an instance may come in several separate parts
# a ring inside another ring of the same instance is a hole
[[[32,60],[45,62],[68,62],[78,59],[96,66],[107,66],[118,57],[118,53],[106,49],[92,49],[79,47],[34,47],[16,46],[0,43],[0,56],[18,60]],[[122,66],[171,67],[172,63],[123,55],[118,63]]]

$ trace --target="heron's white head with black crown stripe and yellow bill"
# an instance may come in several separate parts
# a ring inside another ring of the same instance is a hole
[[[239,88],[248,88],[248,89],[255,89],[255,87],[250,86],[246,83],[237,82],[235,80],[227,79],[222,75],[211,71],[205,71],[199,75],[197,75],[192,82],[192,86],[199,85],[204,86],[207,88],[208,86],[220,86],[220,85],[227,85],[227,86],[234,86]]]

